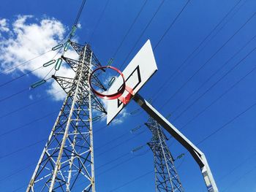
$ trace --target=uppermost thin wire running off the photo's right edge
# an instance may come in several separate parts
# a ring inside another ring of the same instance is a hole
[[[173,93],[173,95],[170,96],[170,97],[167,99],[167,101],[165,101],[164,104],[162,104],[162,106],[160,107],[160,109],[162,109],[163,107],[166,107],[166,104],[167,104],[171,99],[173,99],[173,97],[176,96],[176,95],[179,93],[179,91],[181,91],[181,89],[184,88],[184,86],[187,85],[187,83],[188,83],[190,80],[192,80],[192,78],[195,77],[195,75],[196,75],[198,72],[200,72],[200,70],[203,69],[203,67],[206,66],[206,64],[208,64],[208,62],[211,61],[211,59],[214,58],[214,56],[217,55],[217,53],[219,53],[219,51],[222,50],[223,47],[225,47],[225,45],[227,45],[228,42],[230,42],[230,40],[233,39],[233,37],[235,37],[236,34],[238,34],[238,32],[241,31],[241,29],[244,28],[244,26],[246,26],[246,24],[249,23],[249,21],[252,20],[252,18],[255,17],[255,15],[256,15],[256,12],[255,12],[252,16],[250,16],[250,17],[246,20],[246,22],[245,22],[240,28],[238,28],[238,30],[237,30],[229,39],[227,39],[227,41],[226,41],[221,47],[219,47],[219,49],[218,49],[213,55],[211,55],[210,58],[208,58],[208,60],[207,60],[202,66],[200,66],[200,68],[197,69],[197,71],[196,71],[195,73],[193,73],[192,76],[189,77],[189,79],[188,79],[187,81],[185,81],[185,82],[181,85],[181,87],[178,88],[178,90],[177,90],[175,93]]]

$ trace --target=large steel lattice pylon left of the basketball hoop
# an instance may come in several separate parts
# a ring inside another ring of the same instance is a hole
[[[29,191],[72,191],[83,183],[83,191],[95,191],[92,112],[102,115],[104,107],[89,88],[92,66],[100,66],[89,45],[70,42],[78,53],[78,61],[61,56],[75,71],[75,77],[53,78],[67,93],[48,142],[42,151]],[[103,87],[96,76],[94,85]],[[98,116],[99,117],[99,116]]]

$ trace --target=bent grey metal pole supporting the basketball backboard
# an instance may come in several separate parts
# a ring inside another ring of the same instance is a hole
[[[206,188],[208,192],[218,192],[217,185],[215,183],[214,177],[211,174],[211,169],[208,166],[208,162],[206,160],[206,156],[192,143],[181,134],[178,129],[173,126],[165,117],[163,117],[151,104],[148,103],[142,96],[138,93],[133,97],[140,107],[145,110],[148,115],[150,115],[154,120],[157,120],[163,128],[166,129],[178,142],[181,143],[193,156],[197,164],[200,166],[201,172],[203,174],[203,179],[206,183]]]

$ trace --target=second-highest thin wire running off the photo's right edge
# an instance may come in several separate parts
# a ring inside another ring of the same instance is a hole
[[[229,64],[230,61],[232,61],[233,58],[236,57],[236,55],[238,55],[238,53],[241,53],[242,50],[244,50],[244,48],[249,45],[250,42],[252,42],[253,39],[255,39],[256,35],[254,37],[252,37],[251,39],[249,39],[248,42],[246,42],[246,44],[244,46],[242,46],[232,57],[230,57],[225,64],[223,64],[222,66],[219,67],[219,69],[217,69],[217,71],[215,71],[213,74],[211,74],[210,77],[208,77],[208,79],[206,81],[204,81],[199,88],[197,88],[195,91],[193,91],[192,93],[189,94],[189,96],[181,103],[179,104],[172,112],[170,112],[171,114],[173,114],[174,112],[176,112],[183,104],[185,104],[195,93],[197,93],[197,91],[200,90],[200,88],[203,88],[204,85],[206,85],[207,82],[209,82],[209,80],[211,80],[212,77],[214,77],[215,74],[217,74],[218,72],[220,72],[227,64]]]

